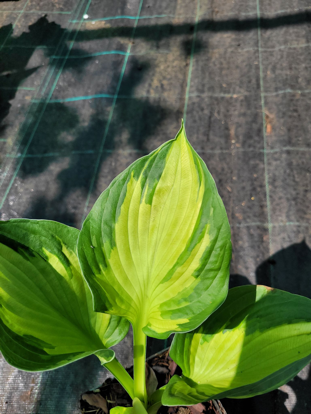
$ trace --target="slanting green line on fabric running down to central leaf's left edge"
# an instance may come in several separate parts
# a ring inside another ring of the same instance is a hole
[[[118,82],[118,85],[117,85],[117,88],[116,88],[116,92],[115,92],[115,96],[114,96],[114,99],[113,99],[113,102],[112,102],[112,105],[111,105],[111,108],[110,108],[110,113],[109,113],[109,117],[108,117],[107,124],[106,124],[106,127],[105,127],[105,131],[104,131],[104,136],[103,136],[103,139],[102,139],[101,147],[99,149],[98,157],[97,157],[97,160],[96,160],[96,164],[95,164],[95,168],[94,168],[94,172],[93,172],[92,181],[91,181],[90,187],[88,189],[88,194],[87,194],[87,197],[86,197],[86,204],[85,204],[85,207],[84,207],[84,212],[83,212],[83,216],[82,216],[81,225],[82,225],[82,223],[83,223],[83,221],[85,219],[86,211],[87,211],[87,207],[88,207],[88,203],[89,203],[89,199],[90,199],[91,193],[93,191],[93,186],[94,186],[94,182],[95,182],[95,176],[96,176],[97,170],[99,168],[101,156],[102,156],[103,149],[104,149],[104,144],[105,144],[105,141],[106,141],[106,137],[108,135],[108,131],[109,131],[110,123],[111,123],[111,120],[112,120],[113,112],[114,112],[114,109],[115,109],[115,106],[116,106],[116,101],[117,101],[117,98],[118,98],[118,95],[119,95],[119,90],[120,90],[121,83],[122,83],[122,80],[123,80],[123,76],[124,76],[124,73],[125,73],[126,64],[127,64],[128,58],[130,56],[130,52],[131,52],[131,48],[132,48],[132,43],[133,43],[133,40],[134,40],[136,28],[137,28],[137,25],[138,25],[138,19],[139,19],[140,11],[141,11],[141,8],[142,8],[142,3],[143,3],[143,0],[140,0],[139,6],[138,6],[137,17],[136,17],[136,20],[135,20],[135,23],[134,23],[134,27],[133,27],[133,31],[132,31],[132,36],[131,36],[130,42],[128,44],[128,47],[127,47],[127,53],[126,53],[126,56],[124,58],[123,66],[122,66],[121,73],[120,73],[120,77],[119,77],[119,82]]]

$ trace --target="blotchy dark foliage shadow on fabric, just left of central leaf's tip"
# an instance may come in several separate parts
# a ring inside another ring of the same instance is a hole
[[[109,134],[106,138],[105,128],[108,119],[105,116],[107,113],[105,101],[101,100],[96,103],[86,127],[79,125],[76,112],[65,104],[46,105],[42,121],[32,138],[32,154],[21,164],[21,176],[23,179],[38,176],[58,157],[68,157],[69,164],[57,175],[58,192],[53,200],[37,199],[25,213],[26,217],[49,218],[68,224],[74,223],[76,216],[68,211],[66,200],[76,190],[80,190],[86,198],[88,190],[96,188],[100,166],[113,151],[120,147],[120,143],[116,144],[115,138],[120,137],[122,132],[126,132],[127,143],[138,152],[138,156],[146,154],[145,141],[170,113],[168,108],[158,103],[152,103],[144,98],[135,98],[135,88],[141,79],[147,76],[148,69],[148,64],[132,59],[128,74],[123,78],[122,83],[122,93],[131,97],[131,103],[129,105],[128,99],[116,101],[114,119],[110,122]],[[38,111],[43,105],[45,104],[39,105]],[[136,114],[140,115],[139,118]],[[35,129],[36,116],[33,119],[34,125],[28,128],[24,142],[27,142],[27,137],[30,137]],[[55,122],[56,119],[57,122]],[[70,134],[69,140],[68,133]],[[53,152],[54,148],[58,149],[57,153]],[[41,156],[44,153],[46,156]],[[120,154],[121,157],[122,154]],[[95,168],[97,162],[99,165]]]

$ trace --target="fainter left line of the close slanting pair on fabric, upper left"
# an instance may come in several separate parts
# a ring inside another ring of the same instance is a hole
[[[80,7],[79,7],[79,1],[80,1],[80,3],[81,3],[81,4],[80,4]],[[78,15],[80,14],[80,12],[81,12],[81,9],[82,9],[82,6],[83,6],[84,2],[85,2],[85,0],[78,0],[78,1],[77,1],[76,6],[75,6],[75,8],[74,8],[74,11],[73,11],[72,13],[74,13],[75,11],[77,11],[77,16],[78,16]],[[79,8],[78,8],[78,7],[79,7]],[[68,23],[67,28],[68,28],[68,27],[69,27],[69,23]],[[73,26],[72,26],[72,29],[73,29]],[[71,29],[71,30],[72,30],[72,29]],[[71,33],[71,30],[70,30],[70,33]],[[59,42],[58,42],[58,44],[57,44],[57,46],[56,46],[56,49],[55,49],[55,50],[58,50],[58,48],[59,48],[59,47],[60,47],[60,45],[62,44],[62,40],[63,40],[63,38],[64,38],[65,34],[66,34],[66,32],[64,31],[64,32],[63,32],[63,34],[62,34],[62,36],[61,36],[61,37],[60,37],[60,39],[59,39]],[[64,46],[63,46],[62,50],[63,50],[63,49],[64,49]],[[61,50],[61,52],[62,52],[62,50]],[[42,83],[44,82],[44,80],[46,79],[46,77],[48,76],[49,71],[50,71],[49,80],[48,80],[48,82],[47,82],[47,83],[45,83],[45,85],[44,85],[44,87],[43,87],[43,92],[41,92],[41,94],[44,94],[44,92],[45,92],[46,88],[48,87],[48,83],[49,83],[49,82],[50,82],[50,80],[51,80],[52,74],[54,73],[55,68],[56,68],[56,65],[52,66],[52,69],[51,69],[51,65],[47,66],[47,69],[46,69],[46,71],[45,71],[45,73],[44,73],[44,75],[43,75],[43,77],[42,77],[42,81],[41,81],[41,83],[40,83],[40,84],[38,85],[38,87],[37,87],[37,92],[35,93],[35,97],[38,95],[39,90],[40,90],[40,87],[41,87]],[[51,73],[51,72],[52,72],[52,73]],[[20,138],[20,140],[19,140],[19,144],[18,144],[18,146],[17,146],[17,151],[18,151],[18,149],[19,149],[19,147],[20,147],[20,144],[21,144],[21,142],[22,142],[22,140],[23,140],[23,138],[24,138],[24,136],[25,136],[26,132],[28,131],[29,126],[31,125],[32,120],[33,120],[33,116],[30,116],[30,118],[27,120],[27,116],[28,116],[28,114],[29,114],[29,112],[30,112],[30,110],[31,110],[32,108],[33,108],[33,105],[29,105],[29,106],[28,106],[28,108],[27,108],[27,110],[26,110],[25,117],[24,117],[24,121],[23,121],[23,123],[22,123],[22,127],[23,127],[23,129],[24,129],[24,133],[22,134],[22,137],[21,137],[21,138]],[[35,113],[35,111],[37,110],[37,108],[38,108],[38,104],[37,104],[37,105],[35,105],[35,110],[34,110],[34,113]],[[8,149],[8,152],[12,149],[13,145],[16,143],[16,140],[17,140],[17,135],[19,134],[20,130],[21,130],[21,128],[19,128],[19,130],[18,130],[18,131],[17,131],[17,133],[15,134],[14,139],[13,139],[13,141],[12,141],[12,144],[11,144],[11,146],[10,146],[10,149]],[[9,171],[9,168],[11,167],[11,165],[12,165],[12,163],[11,163],[11,164],[9,164],[9,165],[7,165],[7,166],[5,166],[5,170],[6,170],[6,171],[5,171],[5,173],[3,174],[3,176],[1,177],[0,187],[2,186],[2,184],[3,184],[4,180],[5,180],[6,174],[7,174],[7,172]]]

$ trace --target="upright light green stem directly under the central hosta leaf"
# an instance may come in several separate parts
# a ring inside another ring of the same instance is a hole
[[[146,343],[147,337],[138,324],[133,326],[134,337],[134,394],[140,401],[148,405],[146,390]]]

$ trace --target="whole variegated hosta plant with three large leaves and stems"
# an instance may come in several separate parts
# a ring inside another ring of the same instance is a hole
[[[276,389],[311,361],[311,300],[266,286],[228,292],[230,259],[224,205],[182,125],[111,182],[81,232],[0,222],[2,354],[29,371],[95,354],[133,399],[115,414]],[[109,349],[129,324],[134,380]],[[146,337],[172,333],[182,376],[148,395]]]

